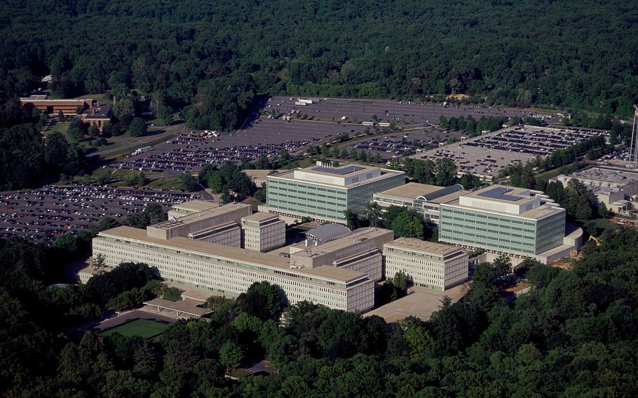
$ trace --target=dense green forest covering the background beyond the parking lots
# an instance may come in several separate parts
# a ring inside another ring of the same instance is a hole
[[[620,116],[638,100],[626,1],[8,0],[0,21],[3,103],[46,74],[57,97],[135,89],[219,129],[257,93],[461,93]]]

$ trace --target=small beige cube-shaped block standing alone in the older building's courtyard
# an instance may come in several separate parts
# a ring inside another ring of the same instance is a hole
[[[257,212],[242,217],[241,228],[245,249],[267,252],[286,241],[286,223],[276,214]]]

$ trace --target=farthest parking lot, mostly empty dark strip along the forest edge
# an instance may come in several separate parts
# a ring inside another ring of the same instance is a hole
[[[438,125],[440,116],[452,118],[472,115],[479,119],[481,116],[508,116],[525,118],[534,116],[547,123],[558,123],[558,114],[548,114],[536,111],[522,111],[519,109],[503,109],[496,107],[456,106],[416,103],[370,101],[362,99],[315,98],[318,102],[306,106],[295,105],[298,97],[273,97],[267,102],[266,110],[279,109],[282,114],[307,114],[323,118],[324,120],[339,121],[348,118],[351,121],[372,121],[373,116],[384,122],[405,122],[418,125]],[[303,97],[311,98],[311,97]],[[312,97],[314,98],[314,97]]]

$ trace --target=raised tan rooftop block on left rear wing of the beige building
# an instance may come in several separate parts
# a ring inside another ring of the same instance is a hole
[[[204,202],[205,203],[205,202]],[[189,205],[182,204],[182,209],[187,209]],[[175,214],[177,210],[171,210]],[[210,228],[234,222],[239,224],[242,217],[250,216],[252,208],[245,203],[233,203],[220,207],[212,207],[208,210],[192,212],[182,217],[168,219],[161,223],[154,224],[147,228],[149,236],[160,239],[171,239],[189,234],[200,233]]]

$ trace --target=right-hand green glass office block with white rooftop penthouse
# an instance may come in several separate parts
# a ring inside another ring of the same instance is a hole
[[[542,192],[498,185],[443,203],[439,240],[540,261],[580,247],[578,240],[565,237],[562,207]]]

